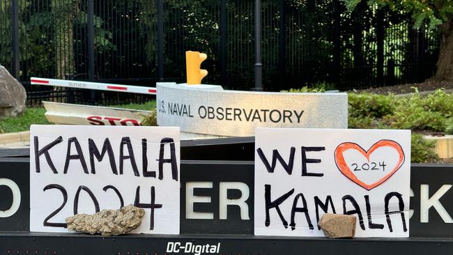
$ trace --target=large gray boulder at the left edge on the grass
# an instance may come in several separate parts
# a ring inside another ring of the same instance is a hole
[[[25,109],[26,91],[8,70],[0,65],[0,116],[16,116]]]

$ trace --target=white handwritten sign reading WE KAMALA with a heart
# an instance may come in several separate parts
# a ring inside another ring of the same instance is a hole
[[[358,237],[408,237],[410,130],[257,128],[255,235],[322,236],[325,212]]]

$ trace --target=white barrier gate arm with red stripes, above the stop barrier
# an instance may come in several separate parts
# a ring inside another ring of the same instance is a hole
[[[46,79],[31,77],[30,82],[32,85],[59,86],[66,88],[86,88],[95,89],[98,91],[116,91],[125,93],[139,93],[146,95],[155,95],[156,93],[156,89],[154,87],[107,84],[99,82],[82,82],[82,81],[71,81],[66,79]]]

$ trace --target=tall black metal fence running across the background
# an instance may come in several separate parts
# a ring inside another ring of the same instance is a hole
[[[438,32],[413,29],[410,16],[366,4],[348,12],[339,0],[263,0],[261,10],[267,91],[413,83],[435,70]],[[147,98],[31,87],[29,77],[184,82],[186,50],[208,54],[204,82],[252,88],[254,1],[0,0],[0,64],[26,86],[31,105],[141,102]]]

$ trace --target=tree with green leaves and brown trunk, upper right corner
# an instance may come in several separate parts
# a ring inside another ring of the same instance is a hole
[[[361,1],[343,0],[349,10],[353,10]],[[391,10],[412,15],[414,27],[420,28],[424,24],[429,27],[440,27],[440,52],[437,62],[437,71],[433,79],[453,80],[453,0],[367,0],[371,5],[380,8],[388,6]]]

